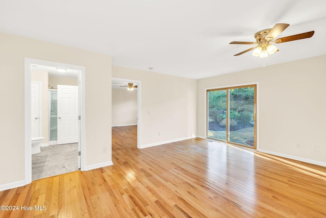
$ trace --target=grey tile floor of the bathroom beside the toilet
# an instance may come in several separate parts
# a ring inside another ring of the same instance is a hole
[[[32,155],[32,180],[78,170],[78,143],[41,147]]]

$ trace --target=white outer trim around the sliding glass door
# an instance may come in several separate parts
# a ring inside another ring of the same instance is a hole
[[[205,88],[204,92],[204,98],[205,98],[205,111],[204,111],[204,120],[205,120],[205,138],[207,139],[208,135],[208,99],[207,99],[207,91],[211,89],[224,89],[224,88],[230,88],[230,87],[238,87],[238,86],[253,86],[256,85],[256,150],[259,150],[259,82],[252,82],[252,83],[241,83],[241,84],[231,84],[231,85],[224,85],[224,86],[215,86],[215,87],[208,87]],[[209,138],[211,139],[211,138]],[[232,144],[234,145],[234,144]],[[235,145],[236,146],[236,145]],[[247,147],[243,147],[247,148]]]

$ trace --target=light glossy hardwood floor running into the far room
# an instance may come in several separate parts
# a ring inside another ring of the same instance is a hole
[[[0,217],[326,217],[326,168],[189,139],[138,150],[112,129],[114,165],[0,192]],[[34,206],[46,210],[34,210]]]

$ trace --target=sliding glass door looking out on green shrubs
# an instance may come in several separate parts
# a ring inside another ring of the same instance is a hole
[[[256,85],[207,90],[207,138],[256,149]]]

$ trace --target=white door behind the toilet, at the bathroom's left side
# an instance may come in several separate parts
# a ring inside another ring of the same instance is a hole
[[[31,86],[31,121],[32,137],[40,135],[40,82],[32,82]]]

